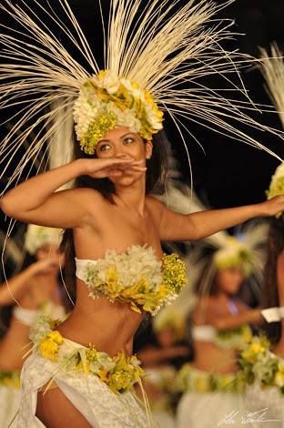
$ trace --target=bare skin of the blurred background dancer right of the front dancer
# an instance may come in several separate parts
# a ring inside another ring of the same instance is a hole
[[[219,270],[216,295],[201,298],[193,312],[194,325],[211,325],[218,331],[239,327],[246,323],[261,321],[261,311],[249,310],[241,301],[233,299],[243,282],[242,271],[237,268]],[[229,311],[234,303],[237,314]],[[194,341],[195,361],[192,365],[205,372],[231,373],[237,371],[236,350],[224,350],[207,341]]]

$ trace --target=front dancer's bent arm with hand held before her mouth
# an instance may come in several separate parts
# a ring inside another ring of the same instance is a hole
[[[68,181],[88,175],[104,178],[112,169],[140,170],[140,162],[134,159],[77,159],[63,167],[55,168],[30,178],[10,190],[1,199],[1,209],[6,215],[26,223],[54,228],[75,228],[87,216],[88,196],[92,192],[97,202],[102,196],[93,189],[70,189],[56,192]]]

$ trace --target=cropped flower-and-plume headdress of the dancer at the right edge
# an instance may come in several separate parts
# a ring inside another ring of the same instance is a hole
[[[261,72],[265,78],[269,96],[276,107],[284,127],[284,58],[277,44],[271,45],[271,56],[265,49],[260,49]],[[269,190],[268,199],[284,195],[284,162],[274,172]]]

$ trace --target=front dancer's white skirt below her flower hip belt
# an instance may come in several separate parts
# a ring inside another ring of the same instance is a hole
[[[57,365],[37,353],[26,361],[21,373],[21,403],[13,428],[43,428],[36,416],[37,392],[54,379],[67,399],[94,428],[145,428],[146,413],[134,393],[116,394],[106,383],[82,372],[56,373]],[[56,375],[55,375],[56,373]]]

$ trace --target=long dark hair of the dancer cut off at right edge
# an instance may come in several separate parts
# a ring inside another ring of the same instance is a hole
[[[282,250],[284,250],[284,215],[280,219],[271,219],[270,223],[261,305],[263,308],[279,307],[277,262]],[[279,322],[266,324],[263,330],[268,334],[271,341],[279,341],[281,333]]]

